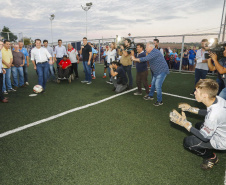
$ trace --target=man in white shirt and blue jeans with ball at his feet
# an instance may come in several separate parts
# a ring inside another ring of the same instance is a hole
[[[52,56],[47,49],[41,47],[40,39],[35,39],[35,46],[36,47],[31,50],[31,60],[34,65],[34,69],[37,70],[38,84],[42,86],[42,92],[45,92],[49,64],[53,64]]]

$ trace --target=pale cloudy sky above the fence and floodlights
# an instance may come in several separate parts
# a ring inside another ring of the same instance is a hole
[[[85,0],[0,0],[0,29],[32,39],[80,40],[85,36]],[[219,32],[224,0],[92,0],[88,39]],[[169,41],[171,41],[169,39]]]

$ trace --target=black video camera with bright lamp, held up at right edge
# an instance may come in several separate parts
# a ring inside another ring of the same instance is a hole
[[[226,43],[220,43],[220,44],[218,44],[218,39],[215,38],[213,44],[211,46],[209,46],[209,48],[206,49],[206,51],[210,51],[212,53],[216,53],[217,58],[218,59],[221,59],[221,58],[224,57],[223,52],[225,50],[225,47],[226,47]],[[210,58],[209,53],[205,53],[205,58],[206,59],[209,59]]]

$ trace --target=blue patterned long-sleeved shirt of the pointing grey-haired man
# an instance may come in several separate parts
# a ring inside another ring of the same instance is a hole
[[[154,76],[158,76],[161,73],[169,74],[169,67],[166,60],[158,49],[154,48],[146,57],[140,58],[140,62],[146,61],[149,61]]]

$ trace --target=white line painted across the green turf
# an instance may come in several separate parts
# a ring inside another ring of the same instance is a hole
[[[30,123],[30,124],[27,124],[27,125],[24,125],[24,126],[21,126],[21,127],[15,128],[15,129],[12,129],[12,130],[9,130],[9,131],[7,131],[7,132],[1,133],[1,134],[0,134],[0,138],[3,138],[3,137],[5,137],[5,136],[11,135],[11,134],[16,133],[16,132],[20,132],[20,131],[22,131],[22,130],[25,130],[25,129],[27,129],[27,128],[30,128],[30,127],[33,127],[33,126],[36,126],[36,125],[39,125],[39,124],[42,124],[42,123],[44,123],[44,122],[47,122],[47,121],[50,121],[50,120],[59,118],[59,117],[64,116],[64,115],[66,115],[66,114],[69,114],[69,113],[72,113],[72,112],[76,112],[76,111],[78,111],[78,110],[86,109],[86,108],[91,107],[91,106],[94,106],[94,105],[98,105],[98,104],[100,104],[100,103],[106,102],[106,101],[111,100],[111,99],[113,99],[113,98],[116,98],[116,97],[118,97],[118,96],[121,96],[121,95],[130,93],[130,92],[132,92],[132,91],[135,91],[136,89],[137,89],[137,88],[133,88],[133,89],[131,89],[131,90],[128,90],[128,91],[125,91],[125,92],[122,92],[122,93],[119,93],[119,94],[110,96],[110,97],[108,97],[108,98],[99,100],[99,101],[97,101],[97,102],[90,103],[90,104],[87,104],[87,105],[84,105],[84,106],[81,106],[81,107],[77,107],[77,108],[74,108],[74,109],[70,109],[70,110],[68,110],[68,111],[59,113],[59,114],[57,114],[57,115],[53,115],[53,116],[50,116],[50,117],[48,117],[48,118],[45,118],[45,119],[42,119],[42,120],[39,120],[39,121]],[[165,94],[165,95],[168,95],[168,96],[177,97],[177,98],[182,98],[182,99],[187,99],[187,100],[195,101],[195,99],[192,99],[192,98],[187,98],[187,97],[184,97],[184,96],[178,96],[178,95],[174,95],[174,94],[170,94],[170,93],[164,93],[164,92],[163,92],[162,94]]]

